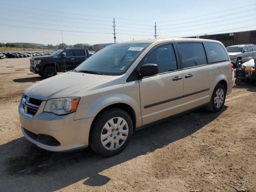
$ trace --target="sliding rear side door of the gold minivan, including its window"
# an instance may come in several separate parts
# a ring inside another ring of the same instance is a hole
[[[184,110],[190,110],[210,101],[213,83],[213,65],[207,63],[203,42],[177,42],[184,74]]]

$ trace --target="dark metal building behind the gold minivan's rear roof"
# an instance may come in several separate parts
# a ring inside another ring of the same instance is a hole
[[[213,35],[193,36],[186,38],[202,38],[218,40],[224,44],[225,47],[238,44],[256,44],[256,30],[242,31],[234,33],[222,33]]]

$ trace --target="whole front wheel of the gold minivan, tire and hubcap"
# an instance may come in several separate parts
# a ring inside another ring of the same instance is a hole
[[[132,137],[133,123],[124,110],[111,108],[96,117],[91,129],[90,148],[101,156],[109,157],[126,148]]]

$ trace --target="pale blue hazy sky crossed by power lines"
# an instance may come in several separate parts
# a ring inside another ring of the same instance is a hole
[[[0,42],[68,45],[256,29],[255,0],[0,0]]]

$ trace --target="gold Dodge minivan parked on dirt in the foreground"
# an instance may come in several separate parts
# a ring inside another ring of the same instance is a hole
[[[219,41],[118,43],[30,86],[19,105],[22,133],[49,151],[90,146],[112,156],[136,130],[203,106],[220,111],[232,85],[230,58]]]

